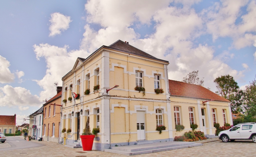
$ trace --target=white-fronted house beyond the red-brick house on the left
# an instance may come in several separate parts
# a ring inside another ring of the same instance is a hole
[[[36,140],[42,138],[43,107],[29,115],[29,123],[28,135]]]

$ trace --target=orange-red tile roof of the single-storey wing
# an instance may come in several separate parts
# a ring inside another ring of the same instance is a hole
[[[214,99],[215,101],[230,102],[229,100],[217,95],[216,93],[213,93],[203,86],[180,81],[169,80],[169,90],[172,96],[200,98],[206,100]]]

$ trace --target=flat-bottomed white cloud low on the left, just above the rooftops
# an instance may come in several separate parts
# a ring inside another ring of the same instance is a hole
[[[37,95],[32,95],[29,90],[22,87],[6,85],[0,87],[0,106],[36,106],[42,102]]]

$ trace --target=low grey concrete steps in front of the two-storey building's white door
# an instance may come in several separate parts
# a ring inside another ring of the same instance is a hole
[[[186,145],[180,145],[180,146],[170,146],[170,147],[164,147],[164,148],[153,148],[149,150],[139,150],[139,151],[125,151],[125,150],[117,150],[117,149],[105,149],[106,152],[112,152],[112,153],[118,153],[122,155],[139,155],[139,154],[146,154],[146,153],[153,153],[153,152],[160,152],[160,151],[167,151],[167,150],[174,150],[174,149],[182,149],[182,148],[189,148],[193,146],[201,146],[202,143],[192,143],[186,144]]]

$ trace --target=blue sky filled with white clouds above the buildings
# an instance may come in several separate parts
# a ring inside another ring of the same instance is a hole
[[[117,40],[169,61],[171,80],[198,70],[213,92],[216,77],[244,89],[256,75],[256,0],[2,0],[0,21],[0,115],[18,125],[77,57]]]

